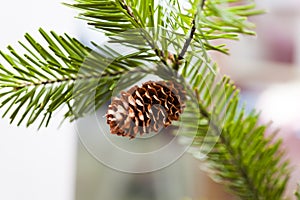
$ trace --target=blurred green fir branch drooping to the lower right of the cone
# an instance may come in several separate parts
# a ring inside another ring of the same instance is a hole
[[[258,125],[258,114],[237,109],[239,92],[229,78],[217,81],[205,62],[200,65],[184,74],[198,98],[198,108],[190,102],[183,117],[190,127],[183,135],[197,133],[192,152],[207,155],[206,170],[241,199],[282,199],[289,168],[281,160],[281,141],[265,136],[267,126]],[[201,123],[195,124],[195,117]]]

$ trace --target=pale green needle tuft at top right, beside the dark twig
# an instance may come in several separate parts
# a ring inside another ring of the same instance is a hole
[[[228,54],[228,50],[224,46],[214,46],[211,41],[237,40],[239,34],[255,34],[251,30],[254,25],[248,21],[247,17],[263,13],[263,11],[255,9],[254,3],[241,0],[206,0],[200,3],[199,0],[194,0],[189,2],[192,8],[187,10],[186,14],[178,11],[176,15],[182,20],[177,20],[176,17],[173,20],[178,21],[182,30],[185,30],[195,20],[194,45],[205,49],[204,51],[214,50]]]

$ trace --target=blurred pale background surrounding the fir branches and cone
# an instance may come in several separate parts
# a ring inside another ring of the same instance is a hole
[[[251,19],[257,24],[257,37],[227,42],[231,56],[213,56],[222,73],[241,88],[247,109],[256,107],[262,111],[262,122],[272,120],[274,128],[281,128],[279,137],[294,166],[288,188],[291,193],[300,180],[300,1],[257,3],[267,9],[267,14]],[[75,15],[58,0],[3,1],[0,49],[9,44],[17,47],[26,32],[40,38],[39,27],[67,32],[86,43],[103,40],[103,35],[87,29]],[[95,131],[88,117],[59,129],[61,116],[55,117],[51,127],[40,131],[0,119],[0,199],[234,199],[202,173],[200,162],[190,155],[163,170],[142,175],[107,168],[77,139],[74,126]]]

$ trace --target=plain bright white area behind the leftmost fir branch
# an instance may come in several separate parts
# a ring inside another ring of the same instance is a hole
[[[39,27],[75,35],[75,14],[58,0],[1,0],[0,49],[18,49],[17,41],[26,32],[37,37]],[[58,129],[60,120],[37,132],[0,119],[0,199],[74,199],[76,133],[68,123]]]

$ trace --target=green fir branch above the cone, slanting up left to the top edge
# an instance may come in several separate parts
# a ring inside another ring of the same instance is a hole
[[[127,4],[125,0],[115,0],[115,1],[103,1],[103,3],[100,3],[102,1],[99,1],[98,4],[96,3],[90,3],[89,1],[80,1],[80,4],[66,4],[70,7],[79,8],[82,10],[85,10],[86,12],[81,13],[80,16],[84,20],[90,21],[89,24],[95,26],[98,29],[103,30],[106,35],[110,36],[111,39],[115,39],[116,42],[119,43],[129,43],[134,44],[136,41],[139,40],[145,40],[146,43],[150,46],[150,48],[155,52],[156,56],[163,62],[167,63],[167,56],[164,55],[163,51],[160,50],[158,45],[156,44],[155,40],[150,36],[150,34],[146,30],[145,23],[148,21],[146,18],[149,18],[149,14],[145,14],[144,18],[141,19],[140,16],[142,12],[142,9],[140,11],[137,11],[137,9],[132,9],[130,5]],[[105,2],[105,3],[104,3]],[[100,5],[99,5],[100,4]],[[142,4],[143,5],[143,4]],[[154,2],[152,2],[152,6],[154,5]],[[107,6],[111,6],[115,9],[114,13],[119,13],[118,18],[109,18],[112,11],[107,11]],[[155,10],[153,7],[151,7],[150,10]],[[137,14],[139,17],[137,17]],[[101,16],[101,17],[100,17]],[[106,21],[106,23],[104,23]],[[126,22],[127,26],[123,26],[123,24]],[[108,28],[107,25],[111,23],[111,26]],[[130,23],[130,26],[128,25]],[[112,27],[118,27],[112,28]],[[118,31],[117,31],[118,30]],[[125,39],[116,39],[116,37],[113,36],[126,36],[126,31],[128,30],[135,30],[137,33],[141,35],[141,39],[134,38],[132,41],[131,39],[125,38]],[[132,43],[133,42],[133,43]],[[138,43],[137,46],[138,49],[141,48],[140,44]],[[134,47],[134,45],[131,45],[131,47]],[[149,53],[149,56],[151,54]]]

